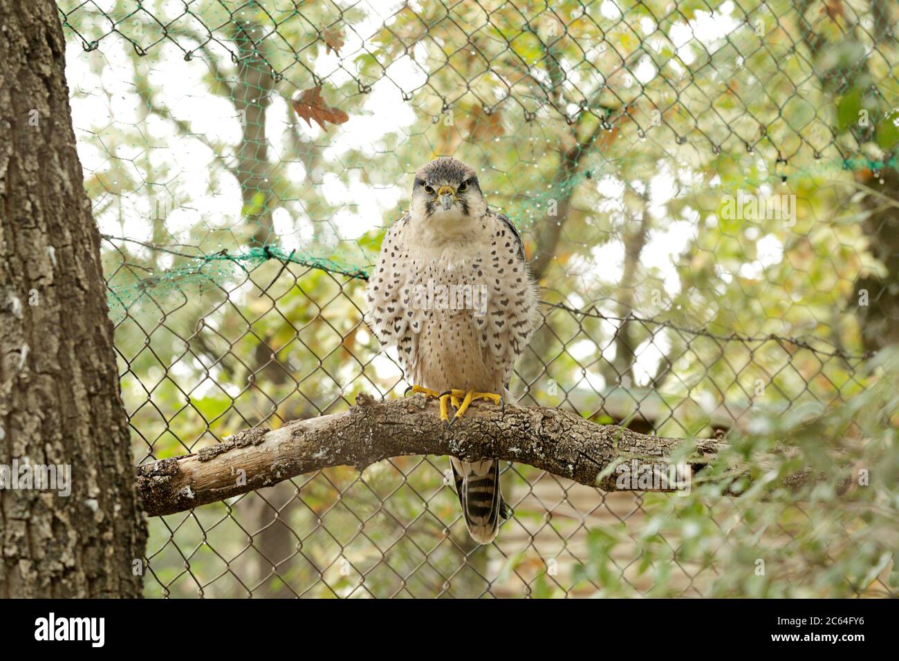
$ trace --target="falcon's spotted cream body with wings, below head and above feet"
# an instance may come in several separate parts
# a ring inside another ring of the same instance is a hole
[[[369,281],[369,324],[407,377],[432,389],[502,389],[536,322],[536,290],[511,228],[469,219],[456,240],[408,217]]]

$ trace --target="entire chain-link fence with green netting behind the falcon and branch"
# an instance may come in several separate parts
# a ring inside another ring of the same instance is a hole
[[[859,291],[899,208],[892,4],[58,7],[140,462],[402,396],[362,293],[437,155],[476,167],[543,285],[523,405],[758,432],[863,391],[895,326],[895,292]],[[447,468],[325,469],[152,519],[146,594],[754,594],[723,577],[747,562],[729,540],[792,557],[821,521],[820,504],[762,521],[733,496],[679,505],[511,464],[515,514],[482,548]],[[855,532],[815,552],[841,557]],[[847,589],[895,595],[890,567]],[[796,576],[792,594],[828,594]]]

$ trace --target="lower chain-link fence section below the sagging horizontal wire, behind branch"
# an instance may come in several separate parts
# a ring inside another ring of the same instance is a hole
[[[402,371],[382,357],[362,324],[360,281],[342,273],[273,259],[204,292],[199,307],[187,294],[147,297],[152,325],[126,315],[117,326],[122,389],[147,460],[196,451],[248,426],[333,413],[359,392],[398,397],[405,389]],[[279,339],[270,335],[270,316],[278,319]],[[597,308],[545,304],[544,316],[512,384],[522,403],[566,406],[597,422],[650,433],[690,437],[745,427],[756,393],[769,393],[765,406],[783,414],[842,400],[843,389],[859,386],[854,378],[865,359],[796,338],[714,335],[611,318]],[[682,343],[676,360],[658,363],[653,379],[663,387],[628,382],[603,357],[630,325],[648,339],[628,371],[645,354]],[[573,380],[573,372],[580,376]],[[616,375],[610,385],[600,385],[603,372]],[[149,430],[156,435],[145,435]],[[161,447],[169,450],[160,453]],[[575,567],[587,559],[589,531],[618,523],[630,544],[611,558],[615,580],[624,594],[655,594],[659,567],[639,567],[637,531],[648,516],[647,498],[676,496],[604,493],[510,465],[503,483],[515,515],[485,551],[467,536],[446,463],[396,458],[362,474],[328,469],[154,520],[148,594],[591,594],[600,582],[579,580]],[[725,520],[734,506],[722,498],[710,511]],[[789,530],[785,525],[775,537]],[[676,537],[664,542],[678,545]],[[658,587],[661,594],[701,596],[714,573],[714,563],[675,562]],[[889,594],[886,584],[878,588]]]

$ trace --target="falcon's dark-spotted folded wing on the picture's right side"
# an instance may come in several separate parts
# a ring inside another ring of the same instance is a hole
[[[500,363],[503,384],[539,317],[537,288],[530,280],[521,234],[512,220],[491,212],[494,219],[487,267],[487,305],[484,317],[476,317],[481,348]]]

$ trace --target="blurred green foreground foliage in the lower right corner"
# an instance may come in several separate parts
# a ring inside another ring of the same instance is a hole
[[[760,412],[753,424],[759,431],[732,433],[728,450],[688,495],[647,496],[641,530],[591,530],[588,558],[573,580],[590,578],[604,596],[632,594],[618,579],[623,552],[636,560],[626,576],[652,576],[653,596],[693,589],[753,598],[895,592],[897,359],[893,350],[872,362],[868,386],[845,404]],[[801,474],[808,479],[800,486],[786,486]],[[691,568],[689,586],[668,582],[672,563]],[[714,574],[700,572],[704,567],[715,567]]]

